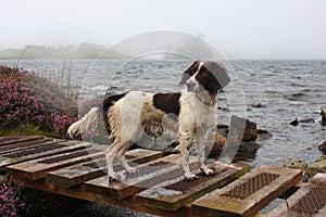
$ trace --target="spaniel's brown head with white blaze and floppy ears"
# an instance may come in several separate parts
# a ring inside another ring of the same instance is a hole
[[[226,68],[212,61],[196,61],[184,74],[180,84],[186,84],[188,91],[208,91],[216,95],[230,81]]]

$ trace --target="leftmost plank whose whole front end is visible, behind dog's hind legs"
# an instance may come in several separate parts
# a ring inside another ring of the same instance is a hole
[[[74,164],[103,157],[106,145],[75,150],[68,153],[57,154],[43,158],[28,161],[7,167],[9,174],[21,179],[37,180],[45,178],[46,174]]]

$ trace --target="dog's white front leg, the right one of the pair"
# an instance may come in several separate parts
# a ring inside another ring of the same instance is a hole
[[[198,130],[197,137],[196,137],[196,145],[198,151],[198,159],[200,162],[200,169],[206,175],[213,175],[214,170],[206,167],[204,164],[205,162],[205,149],[204,149],[204,142],[206,141],[210,129],[200,129]]]

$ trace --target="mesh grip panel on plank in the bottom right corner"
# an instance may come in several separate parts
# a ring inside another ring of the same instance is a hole
[[[313,214],[317,213],[326,203],[326,183],[313,187],[297,204],[291,208],[294,210]]]

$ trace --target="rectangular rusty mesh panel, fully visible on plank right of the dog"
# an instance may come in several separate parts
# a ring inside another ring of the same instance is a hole
[[[241,200],[246,199],[247,196],[253,194],[255,191],[260,190],[264,186],[267,186],[278,177],[279,175],[277,174],[267,174],[267,173],[258,174],[254,177],[248,179],[246,182],[235,187],[224,195],[241,199]]]

